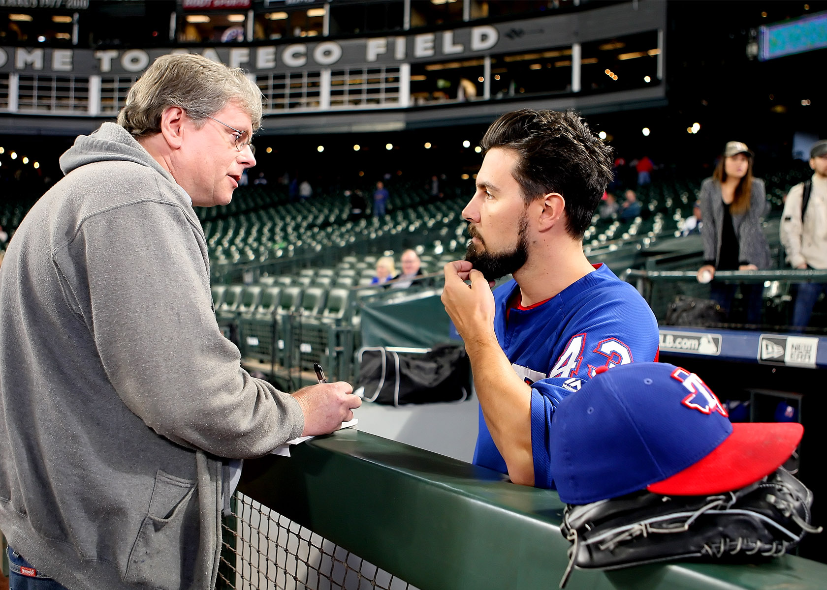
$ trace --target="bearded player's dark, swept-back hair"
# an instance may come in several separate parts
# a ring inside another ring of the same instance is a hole
[[[580,240],[612,178],[612,149],[573,111],[507,112],[480,142],[518,155],[511,175],[531,202],[547,193],[566,201],[566,231]]]

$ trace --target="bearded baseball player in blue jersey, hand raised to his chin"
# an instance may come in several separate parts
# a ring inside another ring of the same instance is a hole
[[[465,341],[480,402],[474,463],[553,486],[552,416],[600,367],[657,360],[657,321],[628,283],[583,254],[611,179],[611,149],[574,112],[509,112],[485,159],[465,260],[445,266],[442,302]],[[491,291],[496,278],[514,280]],[[465,283],[471,281],[470,286]]]

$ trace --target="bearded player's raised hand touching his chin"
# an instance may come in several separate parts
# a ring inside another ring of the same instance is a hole
[[[493,283],[486,281],[467,260],[449,262],[443,271],[442,304],[462,340],[493,337],[496,311],[494,293],[491,293]],[[467,285],[466,280],[471,284]]]

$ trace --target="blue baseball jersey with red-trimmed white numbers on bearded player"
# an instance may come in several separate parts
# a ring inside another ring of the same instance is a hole
[[[549,429],[558,402],[598,367],[657,360],[657,320],[648,303],[605,264],[536,307],[511,307],[515,281],[495,289],[495,333],[514,371],[531,385],[534,485],[553,487]],[[508,473],[480,408],[474,464]]]

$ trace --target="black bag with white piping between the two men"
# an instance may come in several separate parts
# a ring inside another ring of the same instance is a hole
[[[415,353],[366,347],[359,351],[359,362],[354,392],[368,402],[393,406],[464,402],[471,391],[471,363],[465,349],[457,345]]]

